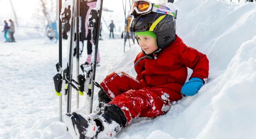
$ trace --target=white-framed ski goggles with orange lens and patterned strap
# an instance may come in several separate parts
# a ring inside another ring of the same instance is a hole
[[[147,0],[133,0],[130,15],[145,15],[150,12],[172,15],[177,19],[177,10],[171,10],[167,6],[159,6]]]

